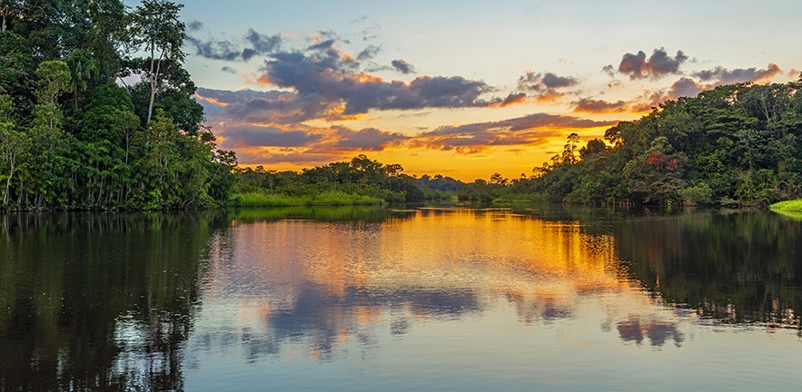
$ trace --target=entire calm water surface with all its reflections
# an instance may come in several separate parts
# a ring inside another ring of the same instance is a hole
[[[767,212],[0,216],[0,390],[797,390]]]

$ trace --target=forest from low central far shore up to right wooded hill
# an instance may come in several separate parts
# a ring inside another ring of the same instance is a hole
[[[802,195],[802,81],[719,86],[668,101],[604,140],[561,153],[530,176],[470,183],[421,178],[360,155],[302,172],[245,169],[237,191],[342,191],[390,202],[565,201],[586,204],[767,206]]]

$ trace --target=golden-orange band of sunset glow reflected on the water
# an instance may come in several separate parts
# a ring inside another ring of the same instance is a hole
[[[269,279],[276,287],[311,281],[335,297],[353,285],[480,285],[498,292],[544,287],[560,295],[629,288],[619,279],[612,237],[508,210],[424,209],[410,219],[354,222],[351,230],[296,220],[234,224],[249,229],[233,231],[233,243],[220,245],[233,246],[246,264],[241,271],[252,271],[248,279]],[[302,238],[315,241],[297,240]],[[373,310],[363,313],[375,316]]]

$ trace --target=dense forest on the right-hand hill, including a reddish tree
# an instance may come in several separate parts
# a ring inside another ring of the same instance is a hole
[[[802,195],[802,80],[738,83],[679,98],[604,141],[563,152],[533,178],[491,178],[466,186],[464,200],[537,193],[589,204],[758,206]],[[495,176],[495,175],[494,175]]]

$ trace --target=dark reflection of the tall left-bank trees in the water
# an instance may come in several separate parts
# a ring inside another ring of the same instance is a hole
[[[15,214],[0,243],[0,389],[181,389],[213,214]]]

